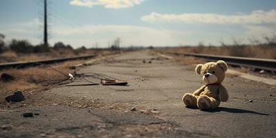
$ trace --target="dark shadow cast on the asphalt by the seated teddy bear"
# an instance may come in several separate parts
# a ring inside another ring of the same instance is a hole
[[[250,113],[255,115],[269,115],[262,112],[255,112],[253,110],[244,110],[244,109],[237,109],[237,108],[225,108],[225,107],[219,107],[214,110],[204,110],[205,112],[231,112],[231,113]]]

